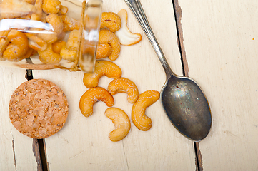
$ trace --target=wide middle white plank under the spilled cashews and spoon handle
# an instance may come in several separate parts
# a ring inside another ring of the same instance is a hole
[[[182,75],[172,1],[142,0],[142,5],[169,64],[175,73]],[[120,9],[128,11],[129,28],[142,33],[143,39],[137,45],[122,46],[121,55],[114,63],[121,67],[123,77],[137,84],[140,93],[161,90],[165,74],[142,28],[124,1],[104,1],[104,11],[117,13]],[[46,78],[60,86],[69,101],[64,128],[45,139],[49,170],[195,170],[193,144],[172,126],[160,100],[147,108],[153,122],[151,130],[142,132],[132,125],[124,140],[111,142],[108,136],[114,125],[104,116],[107,108],[104,103],[96,103],[89,118],[80,113],[79,99],[87,90],[82,83],[83,73],[61,70],[33,73],[34,78]],[[110,81],[103,77],[99,86],[107,88]],[[130,116],[132,104],[126,101],[126,94],[114,95],[114,99],[114,107]]]

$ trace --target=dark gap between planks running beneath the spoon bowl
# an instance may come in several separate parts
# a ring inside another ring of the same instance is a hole
[[[177,43],[179,46],[179,52],[181,55],[181,61],[182,61],[182,69],[183,69],[183,75],[189,76],[189,67],[187,63],[187,56],[184,49],[184,37],[183,37],[183,28],[181,24],[182,19],[182,9],[179,6],[178,0],[172,0],[173,8],[174,8],[174,17],[176,20],[176,27],[177,27]],[[195,152],[195,162],[196,162],[196,170],[202,171],[202,154],[199,150],[199,142],[194,142],[194,152]]]

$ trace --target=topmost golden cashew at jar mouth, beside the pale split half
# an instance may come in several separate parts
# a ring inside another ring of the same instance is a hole
[[[113,12],[103,12],[101,14],[100,28],[107,27],[110,31],[118,31],[121,27],[120,17]]]

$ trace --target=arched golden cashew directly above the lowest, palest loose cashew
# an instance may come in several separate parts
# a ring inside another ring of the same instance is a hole
[[[115,95],[116,93],[127,93],[127,100],[129,103],[135,103],[139,96],[137,86],[128,78],[115,78],[109,83],[107,90],[111,95]]]

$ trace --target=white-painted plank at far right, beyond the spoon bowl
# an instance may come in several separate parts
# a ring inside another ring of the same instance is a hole
[[[258,1],[180,1],[189,76],[212,109],[204,170],[258,170]]]

